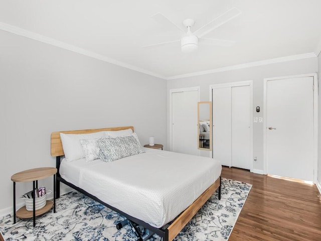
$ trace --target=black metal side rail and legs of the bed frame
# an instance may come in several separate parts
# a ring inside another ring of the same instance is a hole
[[[80,193],[82,194],[85,194],[86,196],[94,199],[95,201],[101,203],[102,205],[112,209],[113,211],[123,215],[124,217],[126,217],[128,220],[134,222],[134,223],[137,223],[141,226],[143,226],[144,228],[146,229],[149,229],[150,231],[154,232],[155,234],[157,234],[158,236],[160,236],[162,238],[163,241],[170,241],[169,240],[169,230],[167,229],[167,225],[161,227],[161,228],[157,228],[157,227],[153,227],[151,226],[150,224],[138,219],[138,218],[135,218],[133,216],[130,216],[128,215],[127,213],[124,213],[123,211],[103,202],[102,200],[100,200],[99,198],[97,198],[96,196],[86,192],[85,190],[75,186],[74,184],[70,183],[70,182],[67,182],[65,179],[63,179],[59,173],[59,168],[60,168],[60,162],[61,162],[61,157],[62,156],[58,156],[56,157],[56,168],[57,168],[57,177],[56,177],[56,198],[59,198],[60,197],[60,182],[66,184],[67,186],[70,186],[72,187],[73,189],[79,191]],[[220,186],[219,186],[219,200],[221,199],[221,176],[220,176]]]

